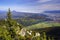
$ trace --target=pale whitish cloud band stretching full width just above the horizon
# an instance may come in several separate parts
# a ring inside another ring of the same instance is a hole
[[[42,13],[46,10],[60,10],[60,4],[42,4],[35,6],[0,6],[1,10],[16,10],[18,12]]]

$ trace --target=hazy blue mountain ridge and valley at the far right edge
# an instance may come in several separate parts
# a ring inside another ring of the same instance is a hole
[[[44,12],[49,18],[60,21],[60,10],[48,10]]]

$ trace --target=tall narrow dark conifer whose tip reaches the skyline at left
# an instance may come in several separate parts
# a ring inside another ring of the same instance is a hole
[[[11,11],[10,8],[8,9],[8,13],[7,13],[7,23],[8,23],[8,31],[11,35],[11,38],[15,37],[15,32],[14,32],[14,28],[13,28],[13,24],[12,24],[12,17],[11,17]]]

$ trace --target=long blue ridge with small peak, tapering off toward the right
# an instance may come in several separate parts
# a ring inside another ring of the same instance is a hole
[[[40,14],[40,13],[27,13],[27,12],[16,12],[12,11],[12,17],[13,18],[18,18],[18,17],[39,17],[39,16],[47,16],[45,14]],[[7,15],[7,11],[0,11],[0,18],[4,17]]]

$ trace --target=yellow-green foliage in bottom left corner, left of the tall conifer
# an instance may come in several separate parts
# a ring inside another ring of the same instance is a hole
[[[9,32],[6,28],[4,28],[3,26],[0,26],[0,38],[2,38],[2,40],[12,40],[11,36],[9,35]]]

